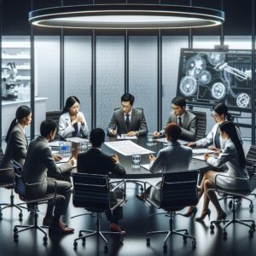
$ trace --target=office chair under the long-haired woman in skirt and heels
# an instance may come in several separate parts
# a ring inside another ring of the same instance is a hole
[[[250,220],[250,219],[237,219],[236,218],[236,200],[244,198],[246,195],[250,195],[250,192],[256,188],[256,172],[255,171],[256,171],[256,166],[253,166],[253,172],[252,172],[251,176],[249,177],[249,179],[240,178],[240,177],[228,177],[230,180],[232,180],[232,179],[236,180],[236,182],[238,182],[238,181],[248,182],[248,188],[243,189],[243,190],[220,188],[220,187],[218,187],[218,177],[226,177],[226,176],[224,176],[223,174],[217,174],[215,176],[216,188],[211,189],[211,190],[216,191],[218,193],[218,195],[223,196],[225,194],[232,198],[232,219],[211,221],[211,225],[210,225],[211,233],[214,233],[214,225],[213,224],[224,223],[225,225],[224,225],[224,230],[223,230],[223,238],[224,238],[224,240],[226,240],[227,235],[228,235],[226,232],[227,227],[230,224],[242,224],[249,228],[249,231],[248,231],[249,237],[250,238],[253,237],[253,232],[255,230],[254,221]],[[251,225],[249,225],[247,223],[251,223]]]

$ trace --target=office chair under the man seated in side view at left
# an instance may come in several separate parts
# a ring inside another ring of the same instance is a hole
[[[11,160],[11,163],[14,165],[15,168],[15,192],[20,196],[21,201],[25,201],[26,204],[30,204],[33,207],[38,206],[39,204],[45,204],[48,203],[49,201],[55,201],[55,200],[61,200],[65,199],[63,195],[58,195],[56,193],[50,193],[46,194],[38,199],[27,199],[26,198],[26,188],[29,186],[35,186],[38,184],[42,183],[26,183],[26,181],[23,179],[21,176],[21,170],[22,167],[20,164],[18,164],[15,160]],[[52,181],[55,183],[55,181]],[[56,191],[56,186],[57,184],[55,183],[55,191]],[[33,212],[33,217],[34,217],[34,224],[33,225],[15,225],[14,228],[14,241],[18,242],[19,241],[19,235],[18,233],[26,230],[40,230],[41,232],[44,233],[44,245],[47,245],[48,241],[48,236],[47,233],[42,229],[42,227],[38,226],[38,212],[34,211]],[[18,230],[18,228],[22,228],[22,230]]]

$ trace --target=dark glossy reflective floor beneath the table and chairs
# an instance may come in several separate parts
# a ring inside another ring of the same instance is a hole
[[[155,182],[155,181],[154,181]],[[127,189],[128,202],[124,207],[125,219],[120,222],[123,230],[127,231],[123,245],[119,244],[117,239],[108,236],[109,250],[108,255],[131,256],[131,255],[163,255],[163,238],[164,235],[152,236],[150,247],[147,247],[145,240],[145,233],[149,230],[166,230],[168,228],[168,219],[164,215],[154,218],[146,218],[148,214],[156,212],[154,209],[147,207],[141,201],[135,199],[137,188],[134,184],[129,183]],[[254,204],[256,198],[253,198]],[[9,200],[9,190],[0,189],[0,201]],[[17,201],[17,200],[16,200]],[[228,203],[222,202],[224,210],[227,212],[227,217],[231,217],[231,210]],[[211,206],[211,219],[216,218],[216,212]],[[45,206],[39,207],[39,223],[42,223],[44,218]],[[201,211],[201,202],[199,204],[199,212]],[[73,240],[79,235],[80,229],[94,229],[95,218],[90,216],[73,218],[70,217],[84,210],[74,208],[72,202],[69,207],[69,212],[65,219],[67,224],[75,228],[75,234],[69,236],[54,236],[49,237],[49,243],[45,247],[43,245],[43,235],[35,231],[26,231],[20,233],[18,243],[13,241],[13,228],[15,224],[20,224],[18,219],[18,211],[15,209],[8,209],[3,211],[3,220],[0,221],[0,255],[104,255],[104,243],[90,237],[86,240],[83,246],[82,241],[79,241],[77,251],[73,250]],[[182,211],[185,212],[185,209]],[[250,213],[248,202],[242,201],[238,208],[239,218],[253,218],[256,219],[255,212]],[[32,223],[32,218],[24,211],[24,218],[22,224]],[[177,216],[176,228],[187,228],[189,234],[196,237],[197,247],[192,249],[191,241],[183,244],[183,238],[180,236],[173,236],[167,242],[168,252],[166,255],[256,255],[256,237],[249,238],[247,227],[231,225],[228,231],[228,239],[224,241],[222,238],[222,230],[220,225],[215,229],[215,233],[210,234],[210,223],[206,219],[205,222],[196,223],[193,218],[183,218]],[[105,216],[102,218],[102,230],[108,230],[108,222]],[[256,234],[255,234],[256,236]]]

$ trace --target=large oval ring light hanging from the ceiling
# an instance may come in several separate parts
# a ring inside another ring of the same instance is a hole
[[[33,10],[29,21],[65,28],[169,29],[217,26],[224,22],[224,12],[163,4],[94,4]]]

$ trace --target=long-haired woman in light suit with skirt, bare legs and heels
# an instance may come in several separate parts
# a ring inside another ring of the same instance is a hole
[[[199,198],[204,195],[203,209],[201,217],[195,218],[197,221],[203,220],[207,215],[210,217],[210,209],[208,208],[209,202],[212,201],[213,206],[217,210],[217,219],[226,218],[226,213],[218,203],[217,195],[212,188],[216,185],[224,189],[247,189],[248,188],[248,174],[245,168],[246,160],[245,154],[241,145],[240,138],[237,135],[236,125],[232,122],[224,122],[219,125],[220,136],[226,140],[224,150],[218,155],[205,154],[205,160],[210,166],[219,168],[220,166],[228,166],[228,170],[221,173],[215,179],[218,172],[208,171],[204,174],[201,182],[201,189],[199,191]],[[232,177],[239,177],[242,179],[234,179]],[[217,184],[215,183],[215,180]],[[190,207],[190,211],[195,207]]]

